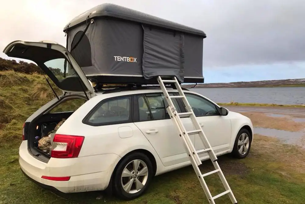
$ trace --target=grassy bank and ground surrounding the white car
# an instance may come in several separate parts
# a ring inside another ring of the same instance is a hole
[[[36,186],[20,172],[18,148],[22,124],[34,111],[50,98],[54,98],[54,95],[46,88],[48,85],[41,75],[6,71],[0,72],[0,77],[0,204],[208,203],[190,166],[156,176],[147,193],[132,201],[121,201],[98,191],[61,195],[64,196],[61,198]],[[60,94],[59,90],[56,91]],[[275,125],[280,125],[270,123],[270,120],[268,123],[268,118],[260,115],[249,117],[256,126],[276,128]],[[304,156],[304,150],[295,146],[283,145],[276,139],[255,135],[251,152],[246,159],[237,160],[224,155],[219,157],[219,164],[239,204],[304,204]],[[204,162],[203,166],[203,172],[211,170],[210,162]],[[207,184],[213,195],[224,190],[216,175],[208,176]],[[227,204],[230,200],[222,197],[217,199],[217,203]]]

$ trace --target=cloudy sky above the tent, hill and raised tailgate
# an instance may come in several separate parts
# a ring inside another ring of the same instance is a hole
[[[206,83],[305,78],[305,0],[2,1],[0,50],[13,40],[65,45],[63,27],[105,2],[203,30]]]

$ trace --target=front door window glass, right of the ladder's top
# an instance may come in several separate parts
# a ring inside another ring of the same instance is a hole
[[[196,116],[219,115],[216,106],[206,99],[192,94],[185,94],[185,96]]]

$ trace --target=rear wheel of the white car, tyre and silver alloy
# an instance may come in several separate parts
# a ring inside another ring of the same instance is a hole
[[[141,152],[131,153],[117,166],[113,181],[114,193],[124,200],[138,198],[145,193],[152,177],[153,167],[149,158]]]

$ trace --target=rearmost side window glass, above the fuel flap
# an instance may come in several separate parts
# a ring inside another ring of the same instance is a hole
[[[107,100],[90,115],[88,122],[96,125],[131,122],[131,97]]]

